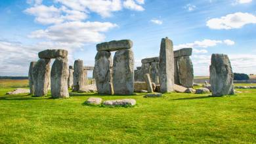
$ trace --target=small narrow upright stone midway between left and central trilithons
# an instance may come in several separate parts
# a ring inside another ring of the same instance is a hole
[[[74,92],[77,92],[85,86],[85,74],[83,71],[83,60],[75,60],[74,62]]]

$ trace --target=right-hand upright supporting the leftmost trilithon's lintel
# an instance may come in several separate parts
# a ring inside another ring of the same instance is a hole
[[[53,98],[69,98],[68,58],[58,56],[51,69],[51,94]]]

